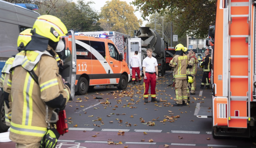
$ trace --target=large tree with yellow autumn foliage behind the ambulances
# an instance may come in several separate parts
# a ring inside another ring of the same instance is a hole
[[[129,34],[129,30],[138,30],[142,25],[142,20],[138,20],[134,14],[133,6],[125,1],[107,1],[101,8],[100,16],[99,22],[105,31]]]

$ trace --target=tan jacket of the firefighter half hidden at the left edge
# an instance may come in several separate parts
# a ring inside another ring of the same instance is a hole
[[[14,57],[9,58],[4,65],[4,68],[2,69],[2,74],[1,74],[1,78],[0,78],[0,88],[2,91],[4,88],[4,85],[7,84],[8,81],[8,77],[9,77],[9,71],[11,69],[11,65],[13,63]],[[8,118],[8,116],[11,116],[11,96],[9,96],[8,98],[6,98],[7,100],[4,100],[4,111],[5,111],[5,123],[6,126],[10,126],[10,120]]]

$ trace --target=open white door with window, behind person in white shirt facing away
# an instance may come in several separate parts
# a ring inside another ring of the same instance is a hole
[[[129,49],[128,49],[129,48]],[[128,39],[128,61],[127,64],[129,65],[129,67],[131,67],[131,65],[129,64],[131,61],[131,57],[134,55],[135,51],[138,51],[138,57],[140,58],[141,61],[141,65],[142,65],[142,60],[141,59],[141,38],[129,38]],[[132,74],[132,69],[130,69],[130,74]],[[142,75],[142,72],[140,71],[140,75]],[[137,73],[136,73],[137,76]]]

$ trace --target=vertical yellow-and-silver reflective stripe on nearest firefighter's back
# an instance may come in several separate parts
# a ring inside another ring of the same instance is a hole
[[[33,115],[33,99],[32,99],[32,91],[34,80],[27,72],[24,88],[23,88],[23,115],[22,115],[22,125],[31,125],[32,123],[32,115]]]

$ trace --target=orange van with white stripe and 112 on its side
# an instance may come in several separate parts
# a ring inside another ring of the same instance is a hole
[[[74,40],[75,43],[72,36],[65,38],[65,56],[76,50],[75,91],[78,94],[84,95],[96,85],[114,85],[120,90],[126,89],[130,70],[111,40],[77,35]]]

